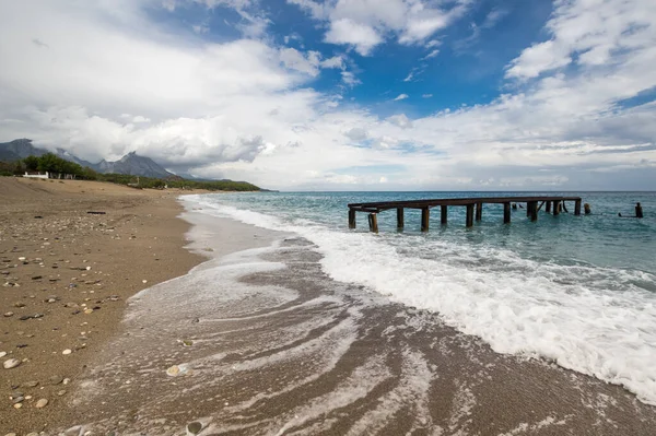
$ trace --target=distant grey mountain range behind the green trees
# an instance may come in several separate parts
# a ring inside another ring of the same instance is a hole
[[[34,146],[30,139],[16,139],[11,142],[0,143],[0,161],[19,161],[27,156],[43,156],[46,153],[49,153],[49,151]],[[74,162],[81,166],[87,166],[103,174],[129,174],[132,176],[155,178],[176,177],[175,174],[167,172],[152,158],[139,156],[136,152],[128,153],[115,162],[103,160],[97,164],[83,161],[62,149],[57,149],[55,154],[61,158]]]

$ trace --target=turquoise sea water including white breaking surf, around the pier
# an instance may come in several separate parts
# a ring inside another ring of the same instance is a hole
[[[501,205],[483,207],[465,227],[465,208],[438,209],[431,231],[406,211],[366,214],[348,228],[348,203],[425,198],[534,196],[540,192],[301,192],[186,197],[194,209],[256,226],[291,232],[316,245],[333,280],[366,286],[394,302],[440,314],[499,353],[543,357],[622,385],[656,404],[656,193],[548,192],[579,196],[593,214],[549,215],[526,210],[503,224]],[[620,217],[643,205],[642,220]],[[573,204],[570,204],[573,212]]]

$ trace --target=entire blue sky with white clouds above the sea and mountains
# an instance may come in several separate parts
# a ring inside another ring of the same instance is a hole
[[[0,142],[280,190],[655,190],[654,0],[0,0]]]

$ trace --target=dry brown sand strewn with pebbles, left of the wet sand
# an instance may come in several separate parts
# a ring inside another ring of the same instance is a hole
[[[0,363],[21,362],[0,367],[1,435],[48,433],[126,298],[202,261],[183,248],[179,193],[0,178]]]

